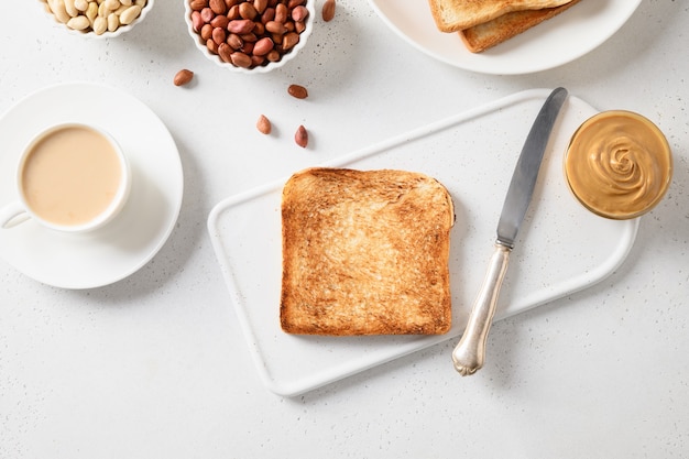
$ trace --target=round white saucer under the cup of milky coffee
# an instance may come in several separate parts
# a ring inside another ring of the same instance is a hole
[[[177,146],[149,107],[114,88],[62,84],[28,96],[0,118],[0,205],[17,199],[14,168],[28,141],[69,121],[101,125],[121,144],[133,175],[125,207],[86,236],[33,221],[0,229],[0,256],[44,284],[92,288],[134,273],[163,247],[179,216],[184,178]]]

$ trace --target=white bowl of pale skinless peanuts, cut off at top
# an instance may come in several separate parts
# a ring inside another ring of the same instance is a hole
[[[155,0],[40,0],[58,25],[88,39],[113,39],[143,22]]]

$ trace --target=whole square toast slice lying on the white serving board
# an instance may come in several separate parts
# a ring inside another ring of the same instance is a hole
[[[283,188],[280,319],[302,335],[435,335],[451,325],[447,189],[404,171],[308,168]]]

